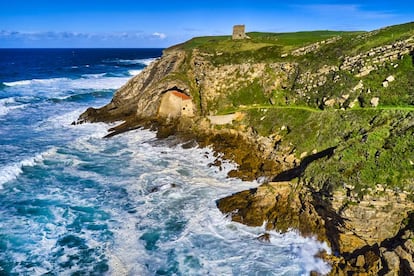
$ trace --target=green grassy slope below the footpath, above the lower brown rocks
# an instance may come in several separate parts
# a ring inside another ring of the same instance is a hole
[[[330,159],[312,163],[305,181],[315,189],[334,190],[353,184],[361,196],[381,184],[414,189],[414,110],[397,107],[348,111],[303,107],[245,108],[243,123],[262,136],[282,136],[281,147],[296,157],[335,147]]]

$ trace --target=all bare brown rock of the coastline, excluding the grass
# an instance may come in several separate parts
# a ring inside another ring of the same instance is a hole
[[[364,39],[375,35],[377,34],[365,35]],[[315,55],[327,47],[329,49],[335,43],[341,43],[341,40],[335,36],[327,40],[329,43],[322,41],[310,44],[307,48],[297,48],[291,52],[290,60],[286,60],[289,56],[279,55],[280,60],[276,61],[235,64],[218,64],[211,53],[199,48],[172,47],[120,88],[108,105],[97,109],[89,108],[74,123],[121,121],[110,130],[107,137],[144,127],[156,130],[160,139],[175,137],[183,147],[211,146],[217,153],[217,159],[212,165],[220,167],[222,158],[238,164],[238,169],[231,171],[229,177],[260,179],[263,182],[257,189],[217,200],[217,207],[232,220],[251,226],[260,226],[266,222],[266,229],[282,232],[297,229],[302,235],[316,236],[318,240],[327,242],[332,254],[321,252],[321,257],[332,265],[331,275],[414,275],[414,202],[412,190],[409,189],[414,186],[412,178],[405,180],[407,185],[395,189],[381,182],[361,188],[348,181],[333,186],[331,182],[335,182],[334,179],[327,176],[323,180],[322,176],[318,176],[323,181],[319,180],[312,171],[316,170],[315,166],[342,162],[350,147],[365,143],[364,139],[375,138],[375,131],[380,128],[387,128],[386,137],[380,141],[384,143],[381,144],[382,151],[386,152],[387,147],[392,147],[389,144],[393,141],[393,132],[411,135],[414,128],[413,112],[377,112],[367,119],[365,128],[341,132],[340,138],[335,138],[334,142],[323,144],[320,148],[315,145],[308,148],[303,146],[305,149],[313,149],[305,152],[300,150],[301,145],[289,140],[289,135],[294,133],[293,127],[282,125],[277,128],[273,126],[269,132],[262,130],[260,126],[266,124],[268,109],[271,107],[263,107],[260,99],[250,106],[244,106],[244,98],[240,96],[246,91],[247,97],[252,97],[250,90],[253,88],[250,87],[259,86],[261,96],[269,105],[277,105],[280,101],[283,102],[283,107],[299,102],[309,103],[313,101],[313,96],[309,95],[316,93],[315,89],[327,85],[329,79],[334,84],[340,82],[340,78],[345,78],[346,74],[353,74],[353,71],[356,74],[365,72],[363,68],[367,67],[366,63],[357,69],[356,65],[352,65],[357,62],[356,57],[363,59],[366,56],[371,60],[375,54],[375,60],[381,60],[377,56],[381,55],[381,49],[385,49],[383,52],[387,59],[381,62],[388,66],[401,60],[401,57],[408,58],[413,49],[411,39],[390,44],[398,47],[381,48],[374,45],[374,50],[368,50],[366,55],[343,58],[342,66],[329,65],[329,68],[335,68],[333,71],[321,70],[328,68],[326,65],[321,65],[314,71],[303,71],[301,59],[304,56]],[[393,55],[389,55],[390,49],[393,50]],[[371,52],[374,54],[371,55]],[[217,53],[214,55],[220,58],[222,56]],[[397,70],[398,66],[393,64],[392,67]],[[359,78],[381,68],[377,62],[370,72],[355,78],[358,78],[358,82],[364,82],[365,79]],[[321,76],[323,81],[318,82],[316,79]],[[315,86],[309,86],[314,82]],[[339,103],[338,108],[345,109],[355,101],[363,105],[363,98],[373,97],[368,92],[369,88],[355,88],[354,84],[355,82],[349,83],[347,97],[320,95],[315,99],[315,105],[325,109]],[[171,95],[167,98],[170,91],[181,95],[181,98]],[[232,91],[238,91],[239,94]],[[295,96],[279,97],[287,92]],[[383,99],[383,96],[380,97]],[[187,98],[191,99],[189,103],[184,102]],[[229,99],[238,103],[237,114],[232,110],[227,111],[224,106],[229,103]],[[335,102],[331,104],[328,99],[335,99]],[[170,115],[160,114],[161,106],[163,110],[170,110]],[[253,117],[252,110],[264,115]],[[211,117],[222,116],[220,113],[232,116],[223,117],[223,120]],[[339,111],[332,111],[332,114],[334,118],[348,116]],[[308,119],[309,122],[313,121]],[[318,131],[323,130],[321,128]],[[365,154],[364,151],[361,154]],[[379,162],[381,151],[371,153],[367,150],[367,160],[371,154]],[[407,158],[411,158],[412,151],[407,154]],[[341,174],[346,174],[346,166],[339,172],[341,178]],[[353,179],[352,177],[347,179]]]

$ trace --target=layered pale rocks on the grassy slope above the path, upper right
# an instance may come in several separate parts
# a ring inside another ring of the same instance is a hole
[[[366,37],[361,35],[356,39]],[[318,47],[305,47],[300,53],[317,53],[324,44],[316,45]],[[339,64],[321,65],[299,74],[296,98],[308,104],[316,103],[320,108],[353,108],[363,105],[361,98],[365,97],[367,106],[377,106],[378,101],[389,98],[386,95],[390,92],[386,91],[389,84],[401,73],[398,67],[404,63],[403,60],[412,59],[413,51],[414,38],[409,37],[372,47],[362,53],[358,51],[357,54],[338,56]],[[295,51],[293,54],[298,55]],[[332,93],[333,90],[337,93]]]

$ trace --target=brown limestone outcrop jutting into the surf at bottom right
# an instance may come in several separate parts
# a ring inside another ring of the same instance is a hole
[[[220,199],[217,207],[234,221],[294,228],[326,241],[331,275],[411,275],[413,202],[382,187],[358,204],[349,200],[340,191],[327,198],[301,183],[270,182]]]

